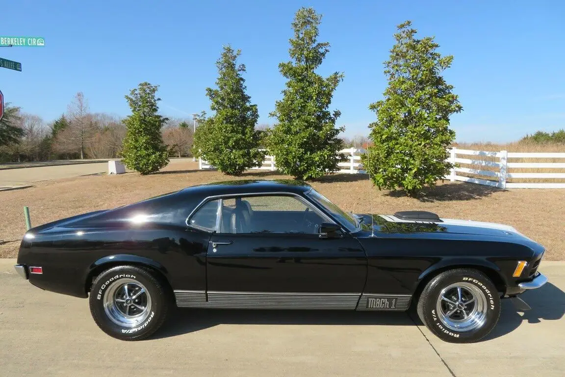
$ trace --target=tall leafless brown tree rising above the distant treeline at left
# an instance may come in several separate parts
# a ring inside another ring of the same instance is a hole
[[[63,153],[74,151],[80,154],[81,159],[84,159],[86,145],[89,144],[95,132],[92,115],[88,110],[84,94],[77,93],[75,100],[67,108],[69,125],[56,137],[56,150]]]

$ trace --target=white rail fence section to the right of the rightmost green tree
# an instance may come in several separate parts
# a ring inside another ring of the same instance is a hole
[[[565,188],[565,183],[552,182],[507,182],[509,178],[529,178],[529,179],[565,179],[565,153],[513,153],[506,150],[490,152],[482,150],[468,150],[452,148],[449,150],[450,157],[447,161],[458,164],[460,167],[451,170],[450,181],[464,181],[488,185],[498,188]],[[468,158],[457,157],[465,155]],[[562,162],[512,162],[514,159],[563,159]],[[493,161],[494,160],[494,161]],[[509,161],[510,160],[510,161]],[[473,167],[463,167],[472,165]],[[478,168],[477,168],[478,165]],[[486,170],[486,168],[490,169]],[[509,170],[529,170],[529,169],[559,169],[558,172],[513,172]],[[458,172],[483,176],[468,177],[457,175]],[[484,179],[490,178],[490,179]]]

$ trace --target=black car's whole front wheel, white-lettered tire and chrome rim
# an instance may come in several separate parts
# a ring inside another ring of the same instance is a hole
[[[425,286],[418,316],[450,343],[472,343],[488,335],[500,316],[500,297],[492,281],[471,268],[448,270]]]

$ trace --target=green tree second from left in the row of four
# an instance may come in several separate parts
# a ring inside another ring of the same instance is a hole
[[[237,64],[241,51],[224,46],[216,62],[218,79],[216,88],[206,88],[210,98],[211,118],[198,122],[194,136],[194,151],[219,171],[228,175],[241,175],[245,170],[261,166],[265,158],[259,150],[261,132],[255,130],[259,118],[257,105],[245,93],[244,64]]]

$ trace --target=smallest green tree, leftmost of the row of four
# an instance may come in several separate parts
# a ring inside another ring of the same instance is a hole
[[[155,97],[158,85],[141,83],[125,96],[132,114],[124,119],[125,134],[122,156],[130,169],[142,175],[156,172],[169,162],[167,146],[161,136],[161,127],[167,118],[157,114],[160,98]]]

